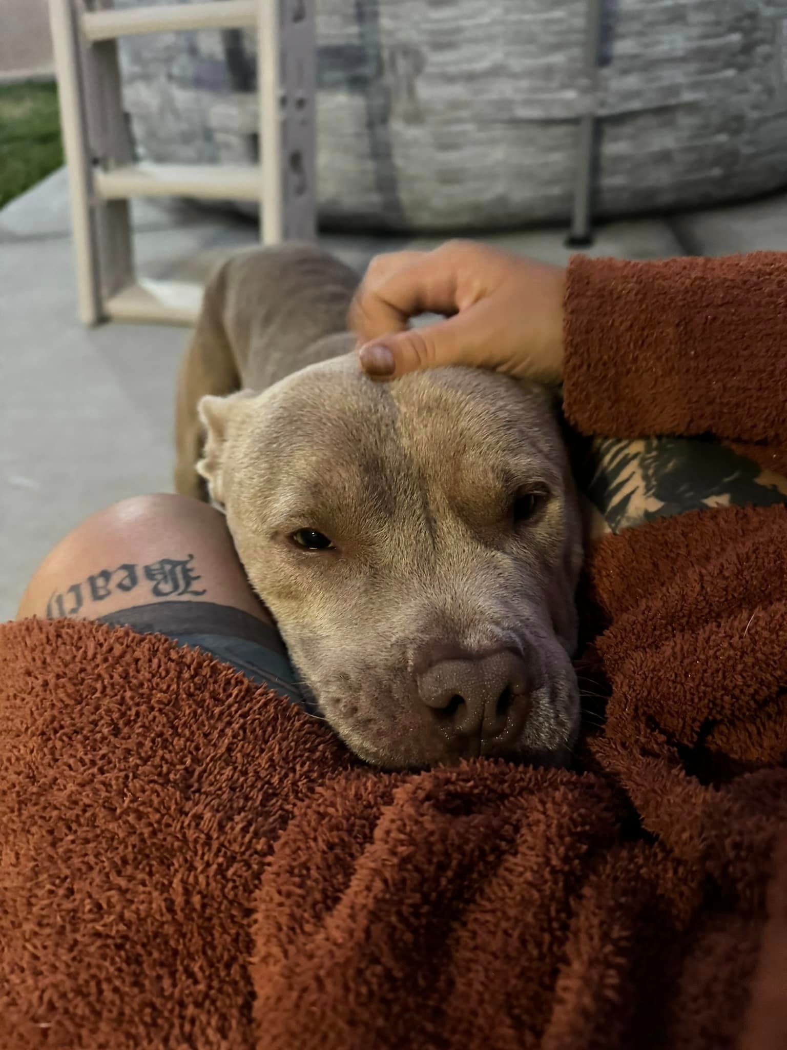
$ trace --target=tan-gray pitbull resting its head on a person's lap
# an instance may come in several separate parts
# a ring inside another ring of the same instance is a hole
[[[311,247],[218,271],[179,377],[176,488],[207,483],[361,758],[562,762],[582,549],[550,397],[458,366],[374,382],[344,331],[356,286]]]

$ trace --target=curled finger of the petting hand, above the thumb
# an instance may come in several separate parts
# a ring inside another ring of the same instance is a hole
[[[418,314],[453,314],[456,310],[455,269],[435,253],[398,253],[382,264],[361,288],[350,307],[350,326],[368,342],[389,332],[401,332]]]

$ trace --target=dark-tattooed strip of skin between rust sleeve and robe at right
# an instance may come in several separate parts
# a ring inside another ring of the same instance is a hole
[[[705,507],[787,503],[787,478],[711,438],[594,438],[575,472],[594,537]]]

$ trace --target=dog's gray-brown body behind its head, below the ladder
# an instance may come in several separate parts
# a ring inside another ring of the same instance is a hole
[[[175,491],[207,499],[195,470],[206,394],[263,391],[291,373],[346,352],[358,275],[307,245],[238,252],[213,275],[184,355],[175,405]]]

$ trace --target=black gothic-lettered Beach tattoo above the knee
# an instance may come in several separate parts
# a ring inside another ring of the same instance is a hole
[[[141,600],[148,594],[157,597],[182,597],[184,594],[199,596],[206,590],[195,590],[194,584],[203,578],[194,571],[194,555],[185,559],[162,558],[149,565],[124,562],[114,569],[101,569],[87,580],[56,591],[46,603],[46,616],[76,616],[86,600],[103,602],[110,594],[128,593],[141,589]]]

